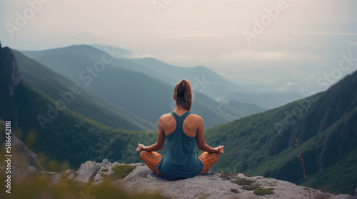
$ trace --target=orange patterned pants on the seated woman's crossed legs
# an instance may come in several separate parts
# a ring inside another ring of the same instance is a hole
[[[203,163],[203,169],[200,175],[206,173],[213,166],[213,164],[218,161],[218,157],[219,155],[217,153],[208,152],[203,152],[201,156],[198,156],[198,158]],[[162,158],[161,154],[155,151],[141,151],[140,158],[144,161],[144,163],[146,163],[147,166],[149,166],[149,168],[151,168],[152,171],[157,173],[159,176],[162,176],[159,169],[157,169],[157,166],[159,165]]]

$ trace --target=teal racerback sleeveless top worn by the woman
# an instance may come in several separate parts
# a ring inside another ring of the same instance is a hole
[[[172,134],[165,135],[167,141],[166,152],[157,168],[169,180],[198,176],[203,169],[203,163],[197,157],[196,151],[194,151],[196,136],[187,136],[182,129],[183,121],[191,113],[186,112],[181,117],[175,112],[170,113],[176,119],[176,129]]]

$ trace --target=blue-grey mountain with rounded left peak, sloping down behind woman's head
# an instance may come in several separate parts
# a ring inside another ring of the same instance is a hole
[[[153,124],[174,106],[174,85],[143,72],[121,68],[120,59],[112,58],[104,51],[89,45],[72,45],[67,48],[23,53],[108,102]],[[104,65],[103,68],[101,64]],[[215,100],[203,95],[202,92],[195,92],[192,112],[203,117],[206,127],[237,118],[222,112],[218,107],[219,103]]]

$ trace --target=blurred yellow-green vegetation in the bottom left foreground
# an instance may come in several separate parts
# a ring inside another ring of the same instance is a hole
[[[5,181],[0,173],[1,182]],[[48,178],[13,178],[11,194],[1,191],[0,198],[7,199],[38,199],[38,198],[164,198],[159,191],[150,193],[127,193],[119,185],[104,182],[101,185],[78,185],[61,181],[55,185]]]

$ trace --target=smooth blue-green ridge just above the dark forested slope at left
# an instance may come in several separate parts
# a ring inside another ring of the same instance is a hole
[[[31,83],[45,95],[51,97],[51,99],[63,100],[63,97],[59,95],[59,92],[73,95],[73,99],[69,95],[70,103],[66,103],[66,107],[74,110],[84,117],[94,119],[96,122],[100,122],[109,127],[119,129],[130,130],[146,130],[151,129],[151,125],[144,119],[137,117],[124,109],[116,107],[114,104],[107,102],[101,97],[97,97],[89,90],[83,89],[79,95],[75,95],[71,92],[74,82],[68,80],[66,77],[59,75],[58,73],[46,68],[44,65],[27,58],[25,55],[13,50],[19,65],[21,77],[27,82]],[[46,107],[46,104],[43,104]],[[46,115],[46,112],[41,113]]]

